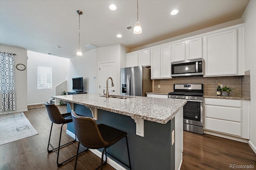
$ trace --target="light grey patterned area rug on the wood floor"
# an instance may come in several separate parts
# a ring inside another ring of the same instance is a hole
[[[0,145],[37,134],[24,113],[0,115]]]

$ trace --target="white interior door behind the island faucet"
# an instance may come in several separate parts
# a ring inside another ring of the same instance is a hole
[[[107,78],[111,77],[113,79],[114,87],[111,85],[111,80],[108,80],[108,94],[116,94],[116,87],[119,88],[119,83],[116,84],[116,63],[100,63],[99,64],[99,89],[100,94],[103,94],[103,91],[106,93],[107,88]]]

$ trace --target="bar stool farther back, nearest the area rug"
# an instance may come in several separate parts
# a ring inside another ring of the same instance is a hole
[[[47,147],[48,153],[50,153],[50,152],[52,152],[52,151],[56,152],[56,154],[57,154],[57,166],[59,167],[59,166],[61,166],[62,164],[64,164],[65,162],[69,161],[70,159],[76,157],[76,155],[75,155],[75,156],[72,156],[71,158],[68,158],[68,159],[65,160],[64,162],[61,162],[61,163],[58,162],[59,156],[60,156],[60,149],[61,149],[62,147],[65,147],[65,146],[67,146],[67,145],[69,145],[69,144],[71,144],[71,143],[73,143],[73,142],[76,141],[76,138],[75,138],[74,141],[68,142],[68,143],[66,143],[66,144],[60,146],[62,127],[63,127],[64,124],[70,123],[70,122],[72,122],[73,120],[72,120],[71,113],[60,114],[60,111],[59,111],[58,107],[57,107],[55,104],[49,104],[48,102],[46,102],[46,103],[45,103],[45,107],[46,107],[48,116],[49,116],[49,118],[50,118],[50,121],[52,121],[52,125],[53,125],[53,123],[55,123],[55,124],[62,124],[62,125],[61,125],[61,128],[60,128],[60,139],[59,139],[59,145],[58,145],[58,147],[54,148],[54,147],[52,146],[52,144],[50,143],[51,134],[52,134],[52,126],[51,126],[49,141],[48,141],[48,147]],[[49,150],[49,145],[50,145],[50,147],[52,147],[52,150]],[[57,150],[58,150],[58,151],[57,151]],[[88,150],[88,149],[86,149],[86,150]],[[84,150],[84,151],[86,151],[86,150]],[[82,151],[82,152],[84,152],[84,151]],[[82,153],[82,152],[80,152],[80,153]],[[79,154],[80,154],[80,153],[79,153]]]

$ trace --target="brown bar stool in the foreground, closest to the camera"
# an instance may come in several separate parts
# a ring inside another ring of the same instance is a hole
[[[114,157],[110,153],[108,153],[110,156],[118,160],[120,163],[124,164],[131,170],[131,162],[130,162],[130,154],[129,154],[129,148],[128,148],[128,141],[127,141],[127,133],[124,131],[121,131],[119,129],[116,129],[114,127],[110,127],[108,125],[104,124],[96,124],[96,121],[90,117],[83,117],[78,116],[74,111],[71,111],[72,119],[74,122],[74,128],[76,131],[77,139],[79,141],[79,144],[81,143],[84,147],[88,149],[101,149],[104,148],[102,151],[101,156],[101,165],[98,167],[102,170],[103,165],[107,163],[107,151],[106,149],[108,147],[111,147],[118,141],[120,141],[122,138],[126,138],[126,147],[128,152],[128,159],[129,159],[129,166],[119,160],[118,158]],[[79,144],[77,148],[76,155],[78,155],[79,150]],[[103,157],[104,152],[106,156],[106,160],[103,163]],[[76,156],[76,163],[77,163]],[[76,170],[76,163],[75,163],[75,170]],[[96,170],[98,169],[96,168]]]

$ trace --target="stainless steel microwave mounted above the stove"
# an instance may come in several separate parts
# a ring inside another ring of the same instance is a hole
[[[202,76],[203,59],[192,59],[172,62],[172,77],[177,76]]]

